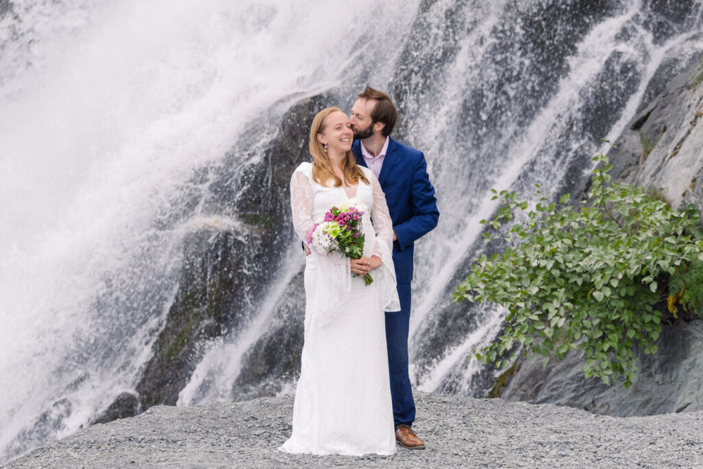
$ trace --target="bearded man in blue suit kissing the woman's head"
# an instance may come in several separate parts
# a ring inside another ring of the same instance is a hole
[[[408,375],[410,283],[413,243],[437,226],[439,211],[423,153],[390,138],[397,116],[390,98],[367,85],[354,102],[349,121],[356,162],[378,177],[393,221],[393,263],[401,310],[386,313],[386,345],[396,440],[406,448],[424,449],[425,443],[411,429],[415,401]]]

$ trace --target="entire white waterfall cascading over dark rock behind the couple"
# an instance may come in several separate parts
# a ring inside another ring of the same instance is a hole
[[[469,352],[501,312],[451,291],[484,249],[489,189],[577,190],[599,139],[699,58],[702,8],[0,0],[0,462],[139,397],[182,300],[183,246],[193,233],[250,245],[240,215],[259,212],[243,207],[286,191],[252,174],[305,148],[305,105],[349,108],[367,82],[396,100],[394,137],[425,152],[441,212],[415,254],[415,385],[482,395],[493,372]],[[290,392],[295,370],[259,370],[295,361],[302,321],[302,257],[280,226],[268,257],[240,262],[261,285],[198,344],[178,404]]]

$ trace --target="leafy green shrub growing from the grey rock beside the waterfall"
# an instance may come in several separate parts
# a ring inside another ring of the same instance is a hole
[[[607,158],[593,160],[605,167],[593,171],[587,199],[574,206],[569,194],[553,203],[538,190],[529,209],[515,193],[494,191],[501,207],[482,223],[510,245],[479,257],[453,295],[507,309],[503,335],[476,354],[484,364],[510,366],[517,343],[545,356],[545,365],[580,349],[586,378],[610,384],[623,377],[629,387],[638,371],[634,349],[657,351],[659,283],[703,260],[699,213],[692,205],[671,210],[643,188],[610,184]]]

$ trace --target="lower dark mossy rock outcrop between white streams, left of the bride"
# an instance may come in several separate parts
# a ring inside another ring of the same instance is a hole
[[[244,319],[240,305],[253,293],[246,269],[258,243],[255,236],[238,234],[203,227],[186,237],[179,291],[137,386],[145,410],[175,405],[202,357],[202,342]]]

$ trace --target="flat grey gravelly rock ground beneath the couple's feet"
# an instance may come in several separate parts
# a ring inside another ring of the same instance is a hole
[[[596,416],[569,407],[416,395],[415,429],[427,449],[394,456],[290,455],[292,397],[155,406],[93,425],[3,467],[280,466],[703,467],[703,411],[648,417]]]

